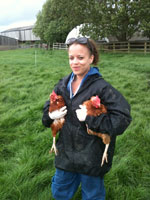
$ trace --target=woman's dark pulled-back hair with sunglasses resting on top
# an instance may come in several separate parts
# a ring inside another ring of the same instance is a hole
[[[68,47],[71,46],[72,44],[81,44],[81,45],[86,46],[88,48],[90,54],[94,56],[92,64],[97,65],[97,63],[99,61],[99,53],[97,50],[97,45],[94,42],[94,40],[88,39],[86,37],[70,38],[66,44]]]

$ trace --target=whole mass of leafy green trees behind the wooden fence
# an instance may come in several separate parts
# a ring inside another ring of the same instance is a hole
[[[47,0],[33,31],[47,43],[64,42],[81,24],[82,35],[96,40],[114,36],[128,41],[141,29],[150,38],[149,12],[149,0]]]

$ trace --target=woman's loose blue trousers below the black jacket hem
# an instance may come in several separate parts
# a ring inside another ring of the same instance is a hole
[[[56,200],[70,200],[81,183],[82,200],[105,200],[104,179],[56,169],[52,194]]]

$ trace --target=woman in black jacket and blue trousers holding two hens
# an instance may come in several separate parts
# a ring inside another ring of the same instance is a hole
[[[50,127],[56,118],[65,117],[65,124],[57,141],[55,156],[56,173],[52,179],[52,194],[56,200],[70,200],[81,184],[83,200],[104,200],[104,175],[112,166],[116,136],[122,134],[131,122],[130,106],[125,98],[106,82],[98,68],[98,51],[94,41],[71,38],[67,42],[72,73],[55,86],[66,107],[49,113],[50,102],[44,106],[43,124]],[[107,107],[107,113],[98,117],[88,116],[80,105],[98,95]],[[105,145],[101,138],[88,135],[88,128],[107,133],[111,137],[108,162],[101,166]]]

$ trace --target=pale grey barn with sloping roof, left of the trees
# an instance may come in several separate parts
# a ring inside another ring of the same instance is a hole
[[[36,37],[33,32],[34,25],[32,26],[25,26],[19,28],[12,28],[0,33],[2,36],[11,37],[17,39],[19,42],[35,42],[39,41],[40,38]]]

